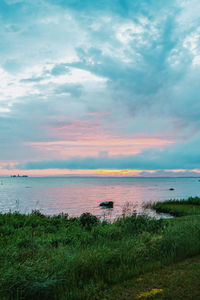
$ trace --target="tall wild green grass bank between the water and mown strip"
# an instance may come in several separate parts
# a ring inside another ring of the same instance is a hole
[[[200,222],[1,214],[0,245],[1,299],[96,299],[113,284],[199,254]]]

